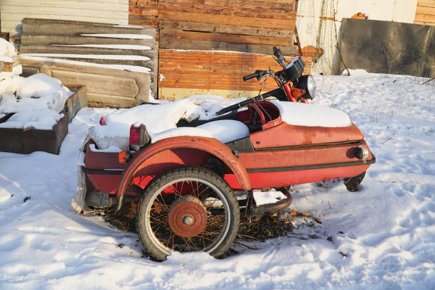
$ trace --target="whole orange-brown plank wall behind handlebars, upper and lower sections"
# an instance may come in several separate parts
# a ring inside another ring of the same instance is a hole
[[[158,5],[161,99],[206,93],[252,97],[262,84],[243,82],[243,75],[269,66],[280,70],[274,46],[285,55],[297,53],[295,0],[159,0]],[[306,63],[309,72],[311,59]],[[270,79],[262,90],[274,88]]]

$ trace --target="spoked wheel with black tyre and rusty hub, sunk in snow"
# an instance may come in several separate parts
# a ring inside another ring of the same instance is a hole
[[[151,256],[171,251],[219,257],[237,235],[240,210],[232,189],[206,168],[186,166],[154,178],[136,215],[136,230]]]

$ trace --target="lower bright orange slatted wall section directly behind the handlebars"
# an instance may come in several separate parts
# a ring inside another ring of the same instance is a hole
[[[287,57],[291,60],[291,57]],[[242,77],[255,70],[282,68],[269,55],[225,53],[212,51],[160,50],[159,98],[174,99],[192,94],[214,93],[223,97],[251,97],[262,83],[244,82]],[[305,74],[310,73],[311,58],[304,58]],[[274,90],[276,83],[269,79],[262,90]]]

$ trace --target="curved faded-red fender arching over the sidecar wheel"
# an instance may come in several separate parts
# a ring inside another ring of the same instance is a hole
[[[118,208],[122,206],[122,197],[131,183],[131,176],[134,176],[144,167],[141,165],[147,159],[162,151],[180,148],[197,149],[216,156],[235,174],[240,188],[251,190],[251,181],[249,180],[245,167],[242,165],[240,160],[232,154],[231,149],[227,145],[213,138],[200,136],[177,136],[157,141],[156,143],[141,149],[141,151],[134,155],[134,158],[131,159],[129,165],[124,169],[121,178],[119,179],[116,195],[117,198],[119,198]]]

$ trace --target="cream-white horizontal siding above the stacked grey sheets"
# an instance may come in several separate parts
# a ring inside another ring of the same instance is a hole
[[[1,32],[21,33],[23,18],[128,23],[128,0],[0,0]]]

